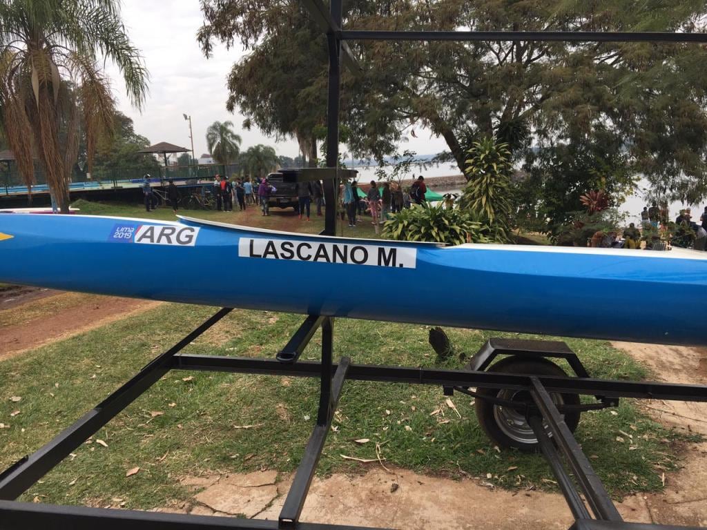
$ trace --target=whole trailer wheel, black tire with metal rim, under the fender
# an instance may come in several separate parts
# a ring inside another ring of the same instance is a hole
[[[489,368],[489,372],[567,377],[561,367],[549,360],[520,357],[500,360]],[[480,388],[477,389],[477,394],[511,401],[532,401],[532,397],[525,390]],[[552,393],[550,395],[556,405],[580,404],[578,394]],[[521,411],[494,405],[481,398],[477,398],[475,406],[479,424],[493,442],[500,447],[515,447],[523,452],[537,451],[537,437]],[[568,428],[574,432],[579,424],[580,413],[565,413],[563,416]]]

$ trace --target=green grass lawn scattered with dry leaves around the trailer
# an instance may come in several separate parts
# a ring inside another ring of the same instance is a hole
[[[88,205],[88,204],[87,204]],[[93,205],[89,205],[92,206]],[[81,205],[83,213],[91,213]],[[95,206],[109,215],[144,216],[137,207]],[[238,212],[204,218],[238,222]],[[172,218],[161,209],[148,217]],[[291,216],[288,223],[298,223]],[[271,218],[256,220],[274,223]],[[305,226],[317,231],[320,220]],[[373,230],[371,230],[373,232]],[[216,308],[164,304],[80,336],[0,362],[0,467],[33,452],[178,341]],[[274,358],[303,317],[235,310],[194,341],[187,353]],[[339,319],[335,353],[354,363],[433,366],[428,327]],[[448,329],[472,354],[491,334]],[[498,334],[493,336],[518,336]],[[603,341],[568,339],[592,377],[641,379],[648,374]],[[303,359],[319,358],[315,335]],[[458,360],[443,367],[460,367]],[[22,500],[153,508],[188,500],[182,476],[257,469],[296,469],[315,422],[317,381],[289,377],[173,371],[34,485]],[[17,400],[17,398],[21,398]],[[341,457],[382,457],[392,466],[460,477],[504,488],[554,490],[544,459],[493,447],[469,396],[438,387],[346,382],[319,472],[361,473],[378,464]],[[437,413],[434,413],[438,411]],[[631,401],[583,414],[577,437],[614,495],[660,490],[663,471],[679,464],[678,435],[648,419]],[[368,438],[357,444],[354,440]],[[101,440],[103,443],[99,443]],[[107,446],[107,447],[106,447]],[[139,473],[126,477],[136,466]],[[490,476],[490,478],[488,478]],[[121,501],[122,502],[122,501]]]

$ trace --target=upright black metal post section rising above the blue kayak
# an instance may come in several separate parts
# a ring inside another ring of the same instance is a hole
[[[330,14],[337,29],[341,28],[341,0],[332,0]],[[339,163],[339,92],[341,88],[341,41],[329,30],[327,33],[329,49],[329,102],[327,107],[327,167],[337,167]],[[339,178],[325,179],[324,200],[325,228],[322,235],[337,234],[337,203],[339,199]]]

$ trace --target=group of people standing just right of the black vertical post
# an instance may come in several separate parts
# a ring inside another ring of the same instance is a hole
[[[403,208],[409,208],[412,203],[422,204],[425,202],[426,193],[427,186],[422,175],[413,180],[408,194],[404,194],[398,184],[390,182],[379,184],[375,180],[371,180],[365,199],[358,196],[358,184],[353,181],[344,184],[341,203],[344,205],[344,211],[349,220],[349,228],[356,228],[357,221],[361,221],[361,216],[366,210],[370,210],[371,221],[374,225],[382,225],[391,213],[398,213]]]

